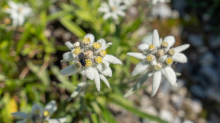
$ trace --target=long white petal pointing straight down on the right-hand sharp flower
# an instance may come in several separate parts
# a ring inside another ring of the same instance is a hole
[[[160,86],[161,77],[162,77],[162,73],[161,73],[160,70],[154,72],[154,74],[153,74],[153,86],[152,86],[152,91],[151,91],[151,97],[153,97],[157,93],[157,90],[158,90],[158,88]]]

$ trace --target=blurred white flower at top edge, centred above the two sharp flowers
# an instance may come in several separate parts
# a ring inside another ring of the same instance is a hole
[[[118,20],[118,16],[125,16],[124,10],[126,9],[125,5],[121,5],[121,0],[108,0],[108,4],[102,3],[98,11],[105,13],[103,18],[107,20],[113,18],[115,21]]]

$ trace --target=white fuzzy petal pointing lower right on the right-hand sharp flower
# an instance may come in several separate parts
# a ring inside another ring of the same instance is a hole
[[[170,66],[162,68],[162,74],[170,82],[172,86],[176,85],[176,74]]]

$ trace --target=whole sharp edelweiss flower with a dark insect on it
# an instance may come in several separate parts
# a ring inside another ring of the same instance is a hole
[[[94,42],[95,37],[92,34],[87,34],[82,42],[71,44],[66,42],[65,45],[71,50],[63,54],[62,61],[74,62],[60,71],[61,75],[70,76],[77,72],[81,72],[90,80],[94,80],[96,88],[100,91],[100,79],[108,86],[109,82],[105,76],[112,76],[112,70],[109,67],[110,63],[121,64],[121,61],[109,55],[106,49],[112,45],[104,39]]]

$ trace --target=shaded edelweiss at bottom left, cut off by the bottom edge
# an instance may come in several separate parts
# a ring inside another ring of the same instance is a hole
[[[50,101],[43,109],[40,105],[34,104],[32,113],[15,112],[12,115],[22,118],[17,123],[64,123],[66,118],[50,119],[50,116],[57,110],[56,101]]]

